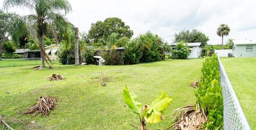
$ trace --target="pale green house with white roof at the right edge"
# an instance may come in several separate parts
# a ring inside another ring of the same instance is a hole
[[[234,40],[234,57],[256,57],[256,42],[252,40]]]

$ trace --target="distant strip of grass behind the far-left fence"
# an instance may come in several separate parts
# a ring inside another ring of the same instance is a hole
[[[52,60],[52,63],[58,64],[59,62],[57,60]],[[42,64],[41,60],[26,60],[26,59],[3,59],[3,60],[0,60],[0,67],[41,65],[41,64]]]

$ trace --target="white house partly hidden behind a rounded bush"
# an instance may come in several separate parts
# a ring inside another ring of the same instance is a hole
[[[175,48],[177,43],[170,44],[171,48]],[[188,43],[188,47],[190,48],[190,54],[188,58],[198,58],[202,53],[202,44],[201,42]],[[172,55],[172,53],[170,54]]]

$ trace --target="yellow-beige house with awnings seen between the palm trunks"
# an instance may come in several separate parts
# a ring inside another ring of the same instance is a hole
[[[51,60],[58,60],[58,50],[60,49],[60,45],[50,45],[44,48],[45,53],[49,56]]]

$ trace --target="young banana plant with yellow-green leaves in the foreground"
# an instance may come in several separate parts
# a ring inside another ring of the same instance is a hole
[[[162,92],[150,105],[144,105],[141,110],[141,103],[138,102],[137,96],[129,90],[127,85],[125,85],[123,97],[127,106],[140,117],[141,130],[145,130],[146,122],[150,124],[162,122],[165,108],[172,102],[172,97],[167,96],[166,92]]]

